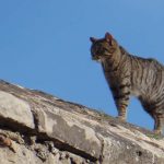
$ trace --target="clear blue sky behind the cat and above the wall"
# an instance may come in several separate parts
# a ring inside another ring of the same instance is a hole
[[[0,2],[0,79],[116,116],[90,36],[113,36],[129,52],[164,63],[163,0],[39,0]],[[131,98],[128,121],[152,129]]]

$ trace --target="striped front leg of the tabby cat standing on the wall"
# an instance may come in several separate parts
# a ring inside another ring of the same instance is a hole
[[[115,104],[118,110],[118,118],[127,119],[127,107],[130,98],[130,84],[120,84],[117,90],[113,90]]]

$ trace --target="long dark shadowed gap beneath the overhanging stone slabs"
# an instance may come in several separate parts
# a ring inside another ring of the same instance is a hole
[[[37,116],[34,113],[33,113],[33,116],[34,116],[34,120],[35,120],[35,126],[37,127],[38,126]],[[50,138],[44,132],[38,132],[38,128],[30,129],[28,127],[25,127],[14,120],[11,120],[9,118],[1,118],[1,117],[0,117],[0,128],[4,129],[4,130],[10,130],[10,131],[12,130],[13,132],[17,131],[17,129],[19,129],[20,134],[25,136],[25,144],[27,144],[27,145],[30,144],[30,141],[27,141],[27,140],[30,140],[30,138],[35,134],[37,137],[37,140],[35,142],[37,142],[37,143],[43,144],[44,141],[52,141],[55,143],[55,147],[57,149],[59,149],[60,151],[68,151],[70,153],[73,153],[81,157],[87,159],[91,162],[97,161],[96,157],[90,155],[89,153],[86,153],[82,150],[75,149],[75,148],[69,145],[68,143],[61,142],[55,138]]]

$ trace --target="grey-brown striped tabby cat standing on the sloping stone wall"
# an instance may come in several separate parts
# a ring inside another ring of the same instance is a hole
[[[155,59],[132,56],[109,33],[90,38],[92,59],[102,63],[112,90],[118,118],[126,120],[130,95],[137,96],[154,119],[154,130],[164,132],[164,67]]]

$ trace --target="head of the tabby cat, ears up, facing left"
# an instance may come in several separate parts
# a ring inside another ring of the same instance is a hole
[[[112,58],[118,49],[117,42],[109,33],[106,33],[104,38],[90,37],[90,40],[92,42],[91,55],[93,60],[103,61]]]

